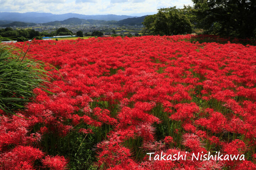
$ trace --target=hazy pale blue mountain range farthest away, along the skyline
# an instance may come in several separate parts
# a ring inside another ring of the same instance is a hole
[[[122,19],[131,18],[134,16],[128,15],[82,15],[77,13],[65,13],[65,14],[52,14],[52,13],[39,13],[39,12],[0,12],[0,20],[10,20],[29,23],[48,23],[52,21],[63,21],[68,18],[80,18],[80,19],[94,19],[105,21],[120,21]]]

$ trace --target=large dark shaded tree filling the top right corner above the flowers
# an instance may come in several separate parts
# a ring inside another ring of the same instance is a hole
[[[205,33],[255,38],[255,0],[192,0]]]

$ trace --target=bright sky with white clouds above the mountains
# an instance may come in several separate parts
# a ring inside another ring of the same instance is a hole
[[[79,13],[84,15],[156,12],[158,8],[193,5],[191,0],[0,0],[0,12]]]

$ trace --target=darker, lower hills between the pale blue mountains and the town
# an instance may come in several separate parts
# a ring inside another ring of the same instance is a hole
[[[63,21],[52,21],[47,23],[41,23],[43,26],[60,26],[60,25],[73,25],[73,24],[115,24],[115,25],[142,25],[142,22],[146,16],[126,18],[120,21],[105,21],[95,19],[80,19],[80,18],[68,18]],[[0,21],[1,27],[31,27],[35,26],[36,23],[26,23],[18,21]]]

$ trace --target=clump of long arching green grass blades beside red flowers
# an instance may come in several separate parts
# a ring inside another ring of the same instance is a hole
[[[45,64],[26,56],[26,52],[0,41],[0,109],[14,114],[30,101],[34,88],[45,89]]]

